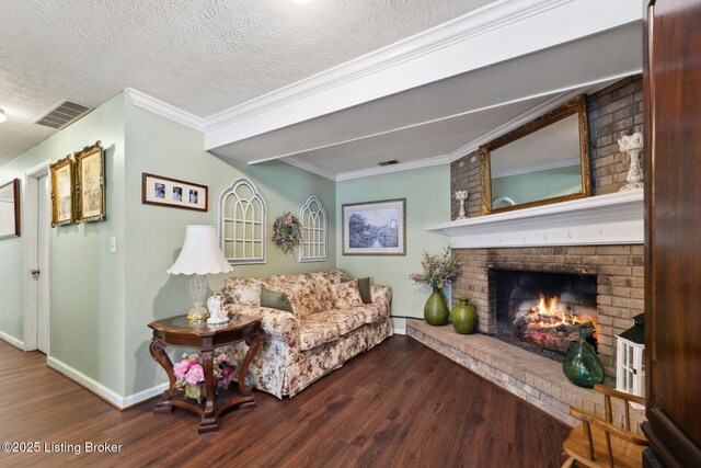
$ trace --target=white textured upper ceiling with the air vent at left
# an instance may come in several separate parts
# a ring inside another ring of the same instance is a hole
[[[0,0],[0,165],[62,99],[135,88],[199,117],[494,0]]]

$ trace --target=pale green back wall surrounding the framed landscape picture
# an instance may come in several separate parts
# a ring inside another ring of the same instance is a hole
[[[406,256],[342,255],[342,205],[391,198],[406,198]],[[415,285],[409,274],[421,271],[424,251],[437,253],[449,243],[426,227],[450,220],[450,164],[337,182],[336,213],[337,266],[353,277],[371,276],[375,284],[392,287],[395,328],[404,328],[403,317],[423,317],[430,288]],[[450,297],[449,290],[444,293]]]

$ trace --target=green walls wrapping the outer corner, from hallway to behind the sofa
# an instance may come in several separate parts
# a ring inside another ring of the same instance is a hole
[[[180,253],[189,224],[217,225],[219,195],[245,176],[267,204],[267,262],[234,265],[208,277],[219,290],[229,275],[265,276],[335,267],[334,182],[284,162],[231,165],[203,150],[204,135],[143,111],[119,94],[0,168],[0,181],[23,176],[37,164],[62,158],[97,139],[105,148],[106,213],[102,222],[51,229],[49,355],[122,396],[162,384],[151,358],[147,324],[185,313],[188,277],[166,270]],[[141,204],[141,173],[151,172],[209,186],[207,213]],[[273,220],[299,213],[310,195],[329,215],[326,262],[299,263],[269,241]],[[23,207],[23,217],[26,207]],[[110,253],[111,238],[117,253]],[[24,239],[0,241],[0,331],[23,340]]]

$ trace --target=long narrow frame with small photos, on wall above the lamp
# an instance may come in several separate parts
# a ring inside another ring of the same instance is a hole
[[[207,185],[146,172],[141,174],[141,203],[150,205],[206,212],[209,209],[208,191]]]

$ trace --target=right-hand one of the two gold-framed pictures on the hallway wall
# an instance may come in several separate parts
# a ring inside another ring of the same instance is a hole
[[[100,141],[76,155],[76,173],[78,222],[102,221],[105,219],[105,163]]]

